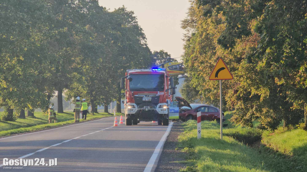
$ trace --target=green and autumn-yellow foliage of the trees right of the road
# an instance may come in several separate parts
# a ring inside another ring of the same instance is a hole
[[[234,80],[223,82],[232,122],[274,130],[296,125],[306,99],[305,1],[191,1],[182,28],[190,99],[217,105],[219,84],[208,80],[222,57]],[[281,12],[282,11],[282,12]]]

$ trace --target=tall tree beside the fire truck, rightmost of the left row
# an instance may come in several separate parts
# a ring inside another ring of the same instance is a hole
[[[117,45],[117,79],[113,88],[116,90],[117,112],[121,113],[122,91],[120,78],[125,76],[127,69],[138,69],[150,66],[150,49],[147,46],[146,36],[143,29],[138,25],[133,11],[127,11],[123,6],[111,12],[116,23],[112,38]],[[109,102],[108,102],[109,103]]]

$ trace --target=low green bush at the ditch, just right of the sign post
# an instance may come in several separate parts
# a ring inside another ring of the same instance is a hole
[[[262,131],[255,128],[235,128],[224,130],[223,135],[249,145],[261,139]]]

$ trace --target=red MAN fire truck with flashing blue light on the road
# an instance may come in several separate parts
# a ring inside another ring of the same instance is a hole
[[[126,125],[137,125],[139,120],[169,125],[169,104],[175,87],[173,78],[165,70],[127,70],[126,76],[121,79],[121,88],[126,90]]]

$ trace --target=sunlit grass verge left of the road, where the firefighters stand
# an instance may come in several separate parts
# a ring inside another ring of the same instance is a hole
[[[121,114],[117,113],[117,115]],[[58,121],[57,123],[51,123],[51,124],[48,124],[48,115],[43,114],[42,112],[34,112],[34,116],[35,117],[26,117],[26,119],[17,119],[14,122],[1,121],[0,136],[8,136],[15,133],[37,131],[50,127],[71,124],[75,122],[73,112],[56,113],[56,118],[58,119]],[[99,114],[95,113],[94,115],[87,114],[87,120],[103,118],[107,116],[110,116],[110,114],[107,113],[99,113]],[[82,121],[83,120],[81,119],[81,122]]]

